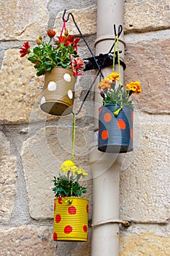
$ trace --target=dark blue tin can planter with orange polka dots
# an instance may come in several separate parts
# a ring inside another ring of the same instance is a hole
[[[115,105],[98,109],[98,150],[126,153],[133,150],[133,108],[124,106],[114,116]]]

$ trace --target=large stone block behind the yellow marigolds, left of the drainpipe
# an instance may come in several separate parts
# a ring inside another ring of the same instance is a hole
[[[88,197],[91,201],[91,181],[88,167],[88,133],[90,127],[76,129],[75,163],[85,168],[89,175],[86,181]],[[58,168],[66,159],[71,159],[72,135],[70,127],[46,127],[39,130],[23,143],[21,157],[26,177],[29,211],[34,219],[53,218],[53,176],[58,176]]]

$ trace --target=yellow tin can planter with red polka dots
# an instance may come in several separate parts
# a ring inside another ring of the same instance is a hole
[[[55,198],[53,240],[88,240],[88,199],[84,197]]]

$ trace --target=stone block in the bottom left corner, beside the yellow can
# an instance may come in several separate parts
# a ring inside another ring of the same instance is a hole
[[[53,229],[34,225],[1,229],[0,249],[3,256],[53,256],[55,252]]]

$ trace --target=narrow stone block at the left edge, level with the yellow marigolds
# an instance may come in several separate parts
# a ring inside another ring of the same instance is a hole
[[[10,155],[9,141],[0,132],[0,223],[6,224],[12,217],[15,203],[17,161]]]

